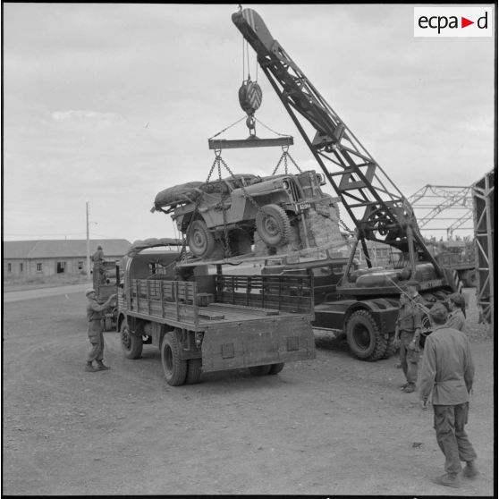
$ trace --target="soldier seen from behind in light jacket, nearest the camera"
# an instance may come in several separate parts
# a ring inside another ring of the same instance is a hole
[[[443,486],[461,486],[461,461],[465,478],[476,478],[477,453],[464,430],[468,422],[469,393],[475,368],[466,334],[445,325],[447,309],[436,303],[430,309],[433,333],[427,337],[419,378],[423,409],[432,394],[436,442],[444,452],[445,474],[435,479]]]

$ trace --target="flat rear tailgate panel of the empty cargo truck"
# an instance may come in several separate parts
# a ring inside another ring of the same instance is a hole
[[[315,359],[309,316],[268,317],[205,330],[203,372]]]

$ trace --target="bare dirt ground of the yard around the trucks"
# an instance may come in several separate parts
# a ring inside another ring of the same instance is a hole
[[[474,292],[474,290],[468,290]],[[397,359],[351,357],[317,337],[317,359],[278,376],[245,369],[165,383],[159,351],[86,373],[82,293],[4,303],[4,495],[493,495],[494,353],[471,325],[476,382],[468,432],[481,475],[437,486],[433,411],[401,393]],[[473,314],[470,315],[472,319]]]

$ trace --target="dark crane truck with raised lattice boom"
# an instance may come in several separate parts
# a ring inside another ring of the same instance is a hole
[[[355,224],[346,262],[329,256],[306,264],[309,272],[316,269],[316,275],[321,268],[331,274],[317,293],[313,325],[337,337],[346,336],[359,359],[385,358],[393,351],[398,298],[408,280],[419,282],[419,292],[431,308],[457,291],[459,279],[428,250],[409,201],[271,35],[259,14],[240,9],[232,19],[255,50],[259,66]],[[400,257],[393,268],[373,266],[367,241],[398,250]],[[368,268],[354,270],[359,244]],[[340,276],[338,266],[343,268]],[[296,274],[298,267],[272,266],[266,273]],[[423,334],[430,332],[426,321]]]

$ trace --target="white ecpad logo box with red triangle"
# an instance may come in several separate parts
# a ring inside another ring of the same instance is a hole
[[[415,37],[491,37],[493,7],[414,7]]]

